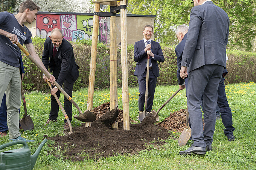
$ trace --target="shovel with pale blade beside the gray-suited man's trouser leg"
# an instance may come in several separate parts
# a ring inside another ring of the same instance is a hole
[[[178,139],[179,146],[185,146],[191,136],[191,128],[189,127],[189,111],[188,110],[186,111],[186,126],[187,128],[183,129]]]

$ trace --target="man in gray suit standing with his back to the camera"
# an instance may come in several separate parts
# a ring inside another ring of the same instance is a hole
[[[181,78],[187,77],[187,106],[194,144],[180,155],[206,154],[212,150],[217,89],[226,67],[229,17],[211,0],[193,0],[189,30],[181,61]],[[204,98],[204,133],[201,97]]]

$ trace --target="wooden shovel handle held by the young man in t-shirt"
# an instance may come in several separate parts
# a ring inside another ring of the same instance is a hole
[[[29,52],[27,52],[26,49],[20,43],[18,43],[17,46],[21,49],[21,51],[23,51],[27,55],[27,57],[29,57],[29,59],[33,63],[35,63],[35,65],[44,73],[44,75],[46,75],[46,77],[50,79],[50,75],[46,72],[46,70],[43,69],[42,66],[40,66],[40,64],[37,63],[37,61],[29,54]],[[59,89],[59,91],[61,91],[64,94],[64,96],[67,97],[67,99],[75,105],[76,109],[78,109],[78,111],[82,113],[81,109],[78,107],[75,101],[72,100],[69,94],[67,94],[67,92],[64,91],[64,89],[62,89],[62,87],[56,81],[54,81],[53,84],[55,84],[55,86]]]

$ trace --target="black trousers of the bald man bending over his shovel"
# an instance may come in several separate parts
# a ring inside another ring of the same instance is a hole
[[[53,71],[53,76],[57,81],[59,76],[59,71]],[[52,88],[55,88],[55,87],[52,86]],[[70,84],[67,80],[65,80],[63,83],[63,89],[64,91],[67,92],[67,94],[69,94],[70,97],[72,97],[73,84]],[[61,91],[58,90],[56,92],[56,95],[58,98],[60,94],[61,94]],[[69,116],[69,120],[71,122],[72,121],[72,103],[65,96],[64,96],[64,110],[67,113],[67,116]],[[56,121],[58,117],[58,113],[59,113],[59,105],[55,97],[51,95],[51,110],[50,110],[49,119]],[[64,119],[64,122],[66,123],[67,120]]]

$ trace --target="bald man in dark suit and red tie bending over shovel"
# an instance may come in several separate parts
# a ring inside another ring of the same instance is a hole
[[[65,39],[63,39],[63,35],[61,30],[55,28],[51,32],[51,36],[47,37],[44,42],[44,52],[42,55],[42,61],[44,66],[48,69],[50,68],[50,72],[53,72],[53,75],[56,78],[56,82],[62,86],[63,89],[72,96],[73,84],[79,76],[78,65],[76,64],[74,58],[74,52],[72,45]],[[47,81],[46,76],[43,76],[44,81]],[[56,86],[52,86],[51,90],[51,110],[50,116],[47,120],[46,124],[50,121],[56,121],[59,112],[59,106],[55,97],[53,96],[55,93],[59,98],[60,91]],[[54,88],[55,87],[55,88]],[[64,96],[64,109],[69,116],[69,120],[72,121],[72,103]],[[64,129],[69,129],[69,124],[66,119],[64,119],[65,125]],[[45,125],[46,125],[45,124]]]

